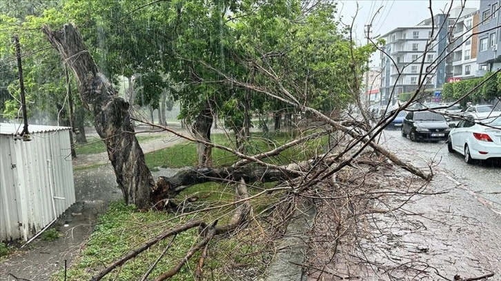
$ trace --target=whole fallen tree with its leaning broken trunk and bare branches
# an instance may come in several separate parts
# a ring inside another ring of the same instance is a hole
[[[58,50],[63,60],[71,67],[72,72],[75,74],[79,84],[81,100],[94,116],[97,133],[106,144],[108,157],[117,176],[117,183],[121,187],[127,204],[135,204],[139,208],[159,207],[162,206],[161,202],[174,198],[182,190],[199,183],[217,182],[233,183],[235,185],[235,200],[230,204],[234,205],[235,209],[233,209],[233,216],[228,224],[217,226],[215,222],[200,220],[197,223],[193,222],[195,225],[191,223],[175,229],[168,229],[164,234],[152,238],[152,240],[146,242],[139,249],[131,251],[117,260],[117,262],[111,264],[101,271],[101,273],[95,275],[95,278],[92,280],[100,280],[113,269],[120,267],[127,260],[137,256],[141,251],[146,251],[146,249],[156,244],[159,240],[175,236],[179,231],[186,231],[193,227],[208,229],[207,231],[199,231],[203,237],[202,240],[195,243],[195,246],[186,253],[183,260],[171,271],[157,278],[157,280],[164,280],[177,273],[183,267],[186,260],[191,258],[195,252],[204,251],[203,249],[215,235],[228,233],[239,226],[245,225],[250,211],[249,200],[255,198],[255,196],[248,196],[248,192],[246,191],[247,184],[255,182],[286,183],[285,187],[279,187],[276,190],[286,191],[284,202],[287,207],[285,209],[293,209],[295,200],[290,200],[291,198],[288,196],[302,196],[312,189],[311,187],[316,187],[319,183],[326,182],[332,184],[334,180],[331,176],[342,171],[344,167],[353,165],[356,158],[364,152],[366,147],[371,147],[373,151],[379,152],[380,155],[391,160],[399,167],[411,171],[411,173],[420,178],[426,180],[430,178],[429,175],[420,171],[420,169],[404,163],[387,149],[378,145],[374,141],[378,132],[373,132],[373,128],[355,121],[334,121],[318,110],[304,105],[286,90],[273,72],[266,70],[262,65],[255,64],[253,67],[256,70],[266,74],[277,85],[279,94],[274,94],[257,85],[242,83],[226,76],[222,72],[217,72],[217,70],[216,72],[226,78],[226,83],[233,83],[233,85],[243,87],[246,90],[265,94],[288,105],[293,105],[293,107],[297,107],[300,111],[313,114],[313,116],[324,123],[320,132],[317,130],[310,134],[300,135],[292,141],[271,149],[268,152],[249,156],[238,149],[231,149],[211,143],[207,138],[193,138],[174,132],[169,127],[150,124],[168,132],[173,132],[203,147],[224,149],[239,158],[236,163],[228,167],[194,167],[184,169],[171,177],[161,176],[157,180],[157,183],[155,183],[144,161],[144,154],[141,147],[139,147],[134,129],[130,124],[131,118],[128,113],[128,103],[117,96],[117,92],[113,89],[111,83],[99,72],[97,65],[83,45],[83,39],[79,32],[72,25],[65,25],[63,30],[57,32],[52,32],[46,26],[43,28],[43,32],[45,32],[50,43]],[[333,152],[317,154],[315,157],[300,163],[276,165],[265,161],[265,159],[279,155],[285,149],[295,147],[315,138],[333,134],[334,132],[338,132],[351,139],[346,149],[342,149],[335,154]],[[371,135],[372,132],[374,134]],[[262,196],[266,192],[268,191],[262,191],[258,196]],[[286,213],[292,214],[293,212],[288,211]],[[202,235],[202,233],[204,234]],[[202,257],[200,264],[203,265]],[[199,272],[202,271],[202,265],[199,267]]]

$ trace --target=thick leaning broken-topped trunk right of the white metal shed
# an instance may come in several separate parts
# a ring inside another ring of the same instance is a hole
[[[66,24],[63,30],[56,32],[45,25],[42,30],[75,73],[81,100],[94,116],[96,132],[104,139],[126,203],[147,207],[155,182],[133,134],[129,103],[119,98],[110,81],[99,72],[73,25]]]

